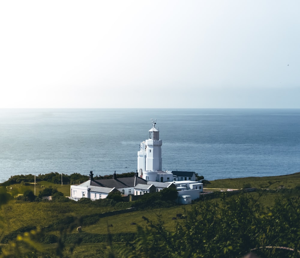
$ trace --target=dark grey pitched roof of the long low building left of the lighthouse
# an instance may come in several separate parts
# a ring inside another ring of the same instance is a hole
[[[135,177],[122,177],[122,178],[112,178],[112,179],[101,179],[101,180],[92,180],[91,186],[102,186],[102,187],[109,187],[109,188],[127,188],[127,187],[134,187],[134,180]],[[141,177],[137,177],[136,183],[137,184],[147,184],[147,180],[144,180]]]

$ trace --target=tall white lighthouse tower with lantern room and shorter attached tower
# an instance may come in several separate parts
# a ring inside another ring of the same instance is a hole
[[[149,139],[140,143],[140,151],[137,153],[137,171],[143,179],[155,181],[157,172],[161,171],[161,145],[159,130],[155,128],[156,120],[152,121],[149,130]]]

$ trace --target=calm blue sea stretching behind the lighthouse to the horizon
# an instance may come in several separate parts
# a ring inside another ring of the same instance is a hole
[[[0,109],[0,182],[16,174],[136,171],[151,118],[164,170],[207,180],[300,171],[298,109]]]

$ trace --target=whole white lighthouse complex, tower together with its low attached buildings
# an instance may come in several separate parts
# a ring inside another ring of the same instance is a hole
[[[152,120],[149,139],[140,143],[137,155],[137,174],[134,177],[117,178],[116,172],[112,179],[90,179],[79,185],[71,185],[71,198],[91,198],[93,200],[106,198],[112,191],[120,191],[122,195],[143,195],[144,193],[159,192],[168,187],[176,188],[179,197],[184,197],[184,203],[199,198],[203,184],[196,181],[196,173],[188,171],[163,171],[161,158],[162,140],[159,130]]]

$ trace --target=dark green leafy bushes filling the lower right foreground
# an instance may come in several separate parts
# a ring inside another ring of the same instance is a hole
[[[263,197],[261,197],[263,198]],[[118,257],[300,257],[299,198],[277,199],[265,209],[246,194],[221,202],[204,201],[187,212],[184,223],[166,230],[144,218],[133,242],[119,249]]]

